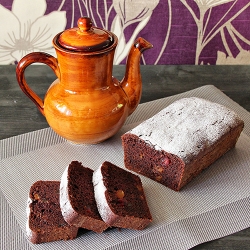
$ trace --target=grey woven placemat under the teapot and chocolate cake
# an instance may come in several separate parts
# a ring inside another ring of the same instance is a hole
[[[181,192],[174,192],[141,176],[154,219],[148,228],[139,232],[125,229],[111,229],[103,234],[84,232],[72,241],[42,245],[27,242],[25,209],[33,182],[39,179],[60,180],[65,167],[72,160],[82,161],[92,169],[104,160],[123,167],[121,134],[173,101],[189,96],[206,98],[234,109],[245,121],[244,133],[235,149],[215,162]],[[70,144],[50,128],[2,140],[0,248],[188,249],[247,228],[250,226],[249,136],[250,114],[220,90],[209,85],[139,105],[116,136],[98,145]]]

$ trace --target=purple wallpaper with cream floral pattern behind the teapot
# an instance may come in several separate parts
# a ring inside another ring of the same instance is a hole
[[[0,0],[0,64],[55,56],[53,37],[81,16],[118,36],[114,64],[138,36],[154,45],[143,64],[250,64],[249,0]]]

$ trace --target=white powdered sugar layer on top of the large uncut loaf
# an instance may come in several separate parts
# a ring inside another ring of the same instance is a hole
[[[156,150],[179,156],[187,163],[240,122],[234,111],[191,97],[172,103],[128,133],[137,135]]]

